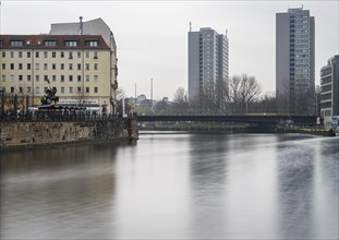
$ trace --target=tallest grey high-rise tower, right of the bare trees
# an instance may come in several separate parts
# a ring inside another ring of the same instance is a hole
[[[315,113],[314,40],[308,10],[276,14],[276,96],[281,113]]]

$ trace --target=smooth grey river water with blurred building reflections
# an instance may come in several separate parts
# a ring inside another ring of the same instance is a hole
[[[0,152],[1,239],[338,239],[339,139],[145,133]]]

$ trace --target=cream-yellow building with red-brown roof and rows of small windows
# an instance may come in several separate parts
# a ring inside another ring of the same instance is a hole
[[[100,35],[0,35],[0,87],[40,105],[49,87],[62,104],[112,111],[111,48]]]

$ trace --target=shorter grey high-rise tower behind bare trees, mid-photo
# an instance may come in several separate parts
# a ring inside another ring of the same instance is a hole
[[[189,98],[204,105],[206,89],[217,86],[221,97],[229,79],[229,40],[210,27],[189,32]]]

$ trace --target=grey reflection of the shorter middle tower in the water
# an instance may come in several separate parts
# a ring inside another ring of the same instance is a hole
[[[226,135],[192,135],[190,139],[192,239],[225,236],[226,139]]]

